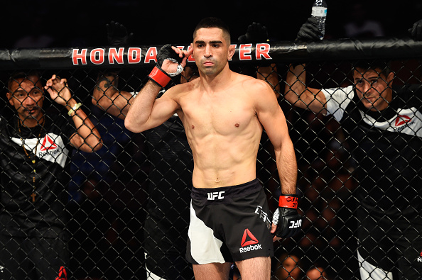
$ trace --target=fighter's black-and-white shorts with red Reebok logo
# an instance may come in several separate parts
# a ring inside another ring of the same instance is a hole
[[[192,264],[273,257],[271,220],[258,179],[237,186],[192,189],[186,258]]]

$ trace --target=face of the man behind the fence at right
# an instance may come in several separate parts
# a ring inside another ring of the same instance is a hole
[[[392,99],[391,84],[394,74],[387,77],[381,69],[362,69],[357,67],[353,73],[357,96],[365,108],[371,111],[382,111]]]

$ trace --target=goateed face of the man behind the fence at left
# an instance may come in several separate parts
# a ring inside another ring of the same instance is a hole
[[[39,120],[42,117],[44,95],[43,86],[38,77],[16,79],[11,83],[10,91],[7,93],[7,98],[22,121],[31,118]]]

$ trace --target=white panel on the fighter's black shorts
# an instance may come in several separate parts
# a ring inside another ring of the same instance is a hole
[[[224,257],[220,251],[222,241],[214,236],[214,230],[208,228],[195,213],[190,202],[190,224],[188,230],[190,239],[190,255],[198,264],[210,264],[212,262],[224,263]]]

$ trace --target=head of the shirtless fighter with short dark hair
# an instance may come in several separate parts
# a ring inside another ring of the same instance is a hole
[[[234,47],[220,28],[200,28],[193,40],[193,56],[200,72],[218,74],[234,54]]]

